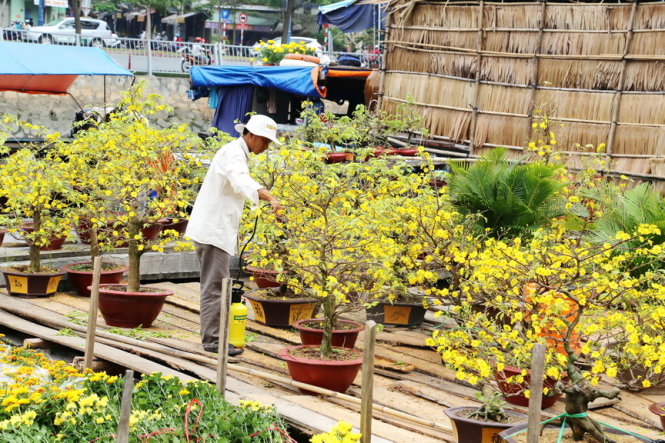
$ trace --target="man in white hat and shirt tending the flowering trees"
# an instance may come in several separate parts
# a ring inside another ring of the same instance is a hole
[[[194,203],[186,236],[194,240],[201,264],[201,342],[203,349],[217,352],[222,279],[229,277],[229,258],[235,255],[240,217],[245,200],[257,205],[265,200],[274,211],[279,201],[249,175],[249,154],[260,154],[277,140],[275,121],[264,115],[238,124],[241,136],[224,145],[212,159]],[[242,349],[229,344],[229,355]]]

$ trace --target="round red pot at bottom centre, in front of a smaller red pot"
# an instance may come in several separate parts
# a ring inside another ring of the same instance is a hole
[[[318,346],[284,348],[279,351],[279,358],[286,361],[295,381],[336,392],[344,392],[351,386],[363,362],[360,351],[346,348],[333,348],[330,359],[322,360]],[[305,389],[300,391],[315,394]]]

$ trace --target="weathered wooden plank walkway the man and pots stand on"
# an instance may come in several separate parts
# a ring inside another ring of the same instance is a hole
[[[175,292],[148,330],[168,337],[150,336],[138,341],[115,334],[100,334],[96,356],[140,372],[161,371],[185,379],[194,377],[214,382],[215,356],[203,351],[199,342],[198,283],[165,282],[154,286]],[[49,298],[19,299],[6,295],[4,290],[2,292],[0,324],[79,351],[84,349],[81,336],[63,336],[58,331],[65,327],[84,330],[88,299],[67,293]],[[364,314],[354,319],[364,321]],[[101,315],[98,325],[100,331],[108,329]],[[425,325],[415,330],[385,328],[377,334],[374,404],[410,414],[421,422],[375,412],[373,441],[455,441],[453,434],[445,430],[451,425],[443,409],[478,404],[476,390],[456,381],[454,373],[441,364],[440,356],[425,346],[430,331],[431,327]],[[300,343],[297,333],[291,329],[271,328],[252,320],[248,320],[247,333],[245,352],[232,358],[229,364],[227,399],[244,398],[275,404],[287,421],[307,433],[327,431],[337,420],[359,426],[360,407],[356,404],[334,397],[303,395],[287,383],[235,369],[241,366],[253,373],[268,373],[287,379],[286,365],[277,358],[277,351]],[[362,334],[356,346],[363,348]],[[360,374],[347,394],[360,398]],[[652,438],[658,435],[663,438],[656,417],[647,408],[655,401],[665,401],[665,390],[623,392],[621,399],[620,402],[599,401],[592,413],[603,422]],[[558,402],[544,411],[544,416],[561,412],[563,403]],[[437,426],[424,425],[422,420]]]

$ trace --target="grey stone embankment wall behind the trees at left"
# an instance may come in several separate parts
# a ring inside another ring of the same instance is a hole
[[[187,123],[194,132],[206,131],[210,127],[214,109],[208,107],[208,99],[191,101],[187,98],[189,77],[136,77],[144,80],[145,94],[159,94],[164,104],[173,106],[173,112],[155,122],[164,127]],[[69,88],[68,95],[35,95],[17,92],[0,92],[0,114],[16,115],[33,124],[46,126],[53,131],[68,132],[72,127],[74,114],[81,106],[113,105],[120,99],[120,93],[127,90],[133,77],[79,76]],[[106,88],[105,88],[106,85]],[[106,96],[104,90],[106,89]],[[21,138],[25,134],[14,134]]]

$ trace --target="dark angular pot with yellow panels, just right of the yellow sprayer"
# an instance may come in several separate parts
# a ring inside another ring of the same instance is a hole
[[[316,315],[319,303],[314,298],[259,297],[245,293],[254,311],[254,320],[267,326],[288,327],[291,323]]]

